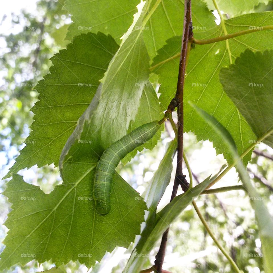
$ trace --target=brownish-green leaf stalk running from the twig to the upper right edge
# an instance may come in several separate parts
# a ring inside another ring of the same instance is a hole
[[[231,39],[231,38],[234,38],[234,37],[242,36],[242,35],[249,34],[249,33],[252,33],[252,32],[258,32],[258,31],[262,31],[262,30],[273,30],[273,26],[262,26],[262,27],[255,28],[255,29],[241,30],[241,31],[238,31],[238,32],[234,32],[232,34],[227,34],[227,35],[224,35],[224,36],[215,37],[215,38],[211,38],[211,39],[204,39],[204,40],[193,39],[193,42],[195,44],[197,44],[197,45],[213,44],[213,43],[216,43],[216,42],[221,42],[221,41],[228,40],[228,39]],[[177,55],[177,57],[178,56],[179,55]],[[169,59],[171,59],[171,58],[169,58]]]

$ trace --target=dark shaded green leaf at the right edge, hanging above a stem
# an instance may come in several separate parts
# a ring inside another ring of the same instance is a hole
[[[234,65],[220,71],[225,92],[257,137],[273,129],[272,67],[272,50],[264,53],[246,50]],[[273,133],[263,142],[273,148]]]

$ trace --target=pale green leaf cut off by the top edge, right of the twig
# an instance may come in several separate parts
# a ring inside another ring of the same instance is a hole
[[[242,13],[248,13],[254,9],[259,3],[268,3],[268,0],[215,0],[220,11],[227,13],[229,17],[240,15]],[[212,0],[204,0],[207,3],[208,9],[215,10],[215,6]]]

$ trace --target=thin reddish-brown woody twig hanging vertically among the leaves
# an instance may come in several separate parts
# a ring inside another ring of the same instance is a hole
[[[185,80],[185,72],[187,65],[187,58],[189,56],[189,50],[191,45],[191,40],[193,39],[192,32],[192,21],[191,21],[191,0],[185,0],[185,13],[184,13],[184,25],[183,25],[183,37],[182,37],[182,46],[181,46],[181,56],[179,63],[179,72],[178,72],[178,81],[177,81],[177,89],[176,95],[168,107],[167,114],[174,111],[175,107],[177,107],[177,115],[178,115],[178,136],[177,136],[177,167],[175,174],[175,181],[173,184],[173,191],[171,194],[171,200],[176,196],[178,186],[181,185],[182,189],[186,191],[189,187],[185,180],[185,176],[182,171],[182,163],[183,163],[183,131],[184,131],[184,119],[183,119],[183,88],[184,88],[184,80]],[[170,201],[171,201],[170,200]],[[162,265],[165,257],[165,250],[167,244],[169,229],[167,229],[161,240],[159,251],[156,255],[155,259],[155,267],[157,273],[162,273]]]

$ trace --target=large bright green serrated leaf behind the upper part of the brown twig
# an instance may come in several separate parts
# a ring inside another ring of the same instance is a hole
[[[226,20],[228,33],[248,29],[249,27],[262,27],[273,24],[273,12],[253,13]],[[212,38],[222,34],[220,26],[207,32]],[[199,38],[195,35],[195,38]],[[245,49],[263,50],[273,48],[273,32],[260,31],[244,36],[239,36],[229,40],[231,57],[233,60]],[[181,38],[175,37],[168,41],[168,44],[158,51],[158,56],[154,59],[154,72],[159,74],[161,83],[159,92],[162,109],[166,109],[169,102],[175,95],[177,85],[177,75],[179,68],[179,50]],[[170,56],[177,56],[170,58]],[[163,63],[162,63],[163,62]],[[229,54],[226,48],[226,41],[208,45],[196,45],[191,50],[187,75],[185,78],[185,131],[193,131],[197,139],[209,139],[213,141],[217,153],[223,153],[228,163],[232,161],[229,151],[222,142],[221,137],[215,135],[204,121],[195,113],[187,103],[188,100],[194,102],[208,113],[213,114],[231,132],[233,139],[241,154],[248,146],[249,140],[255,139],[255,134],[247,124],[239,110],[224,92],[219,80],[219,72],[222,67],[228,66]],[[249,153],[243,160],[247,164],[251,154]]]

